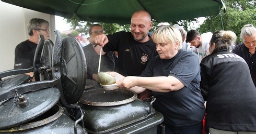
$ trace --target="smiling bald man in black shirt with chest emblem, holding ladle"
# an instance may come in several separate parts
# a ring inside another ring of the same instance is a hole
[[[156,45],[148,35],[152,26],[150,14],[145,10],[138,10],[131,18],[131,32],[101,34],[95,37],[94,43],[103,47],[105,52],[118,51],[115,72],[121,76],[139,76],[145,70],[148,61],[158,55]]]

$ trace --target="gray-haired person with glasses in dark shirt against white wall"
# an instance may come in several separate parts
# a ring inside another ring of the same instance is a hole
[[[44,39],[50,38],[49,22],[46,20],[32,18],[27,25],[27,30],[30,36],[29,39],[21,42],[15,48],[14,69],[28,69],[33,66],[34,53],[39,42],[40,34],[44,36]],[[33,76],[33,72],[28,74],[31,77]]]

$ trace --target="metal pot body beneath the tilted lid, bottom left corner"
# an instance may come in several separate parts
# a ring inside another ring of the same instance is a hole
[[[74,133],[74,121],[65,115],[59,105],[54,105],[43,115],[34,118],[30,122],[13,128],[0,130],[1,133]],[[79,125],[77,133],[85,133]]]

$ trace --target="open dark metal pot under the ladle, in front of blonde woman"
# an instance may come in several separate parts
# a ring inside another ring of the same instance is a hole
[[[131,126],[152,128],[162,122],[162,115],[154,111],[152,103],[136,99],[135,92],[125,89],[84,91],[79,105],[85,110],[84,125],[88,133],[129,133]],[[153,120],[150,120],[155,118]],[[147,123],[145,123],[147,122]],[[127,127],[129,126],[129,127]],[[132,129],[136,131],[138,128]],[[140,131],[143,130],[139,128]]]

